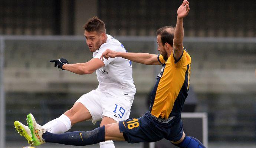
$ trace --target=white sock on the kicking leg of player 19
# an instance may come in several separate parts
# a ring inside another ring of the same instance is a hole
[[[53,134],[62,134],[71,128],[71,121],[68,116],[63,114],[43,125],[43,128]]]

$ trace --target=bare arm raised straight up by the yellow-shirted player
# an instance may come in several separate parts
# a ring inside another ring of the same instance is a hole
[[[183,18],[188,15],[189,12],[189,2],[184,0],[181,6],[177,10],[177,24],[174,32],[173,38],[173,55],[175,60],[178,60],[183,53]]]

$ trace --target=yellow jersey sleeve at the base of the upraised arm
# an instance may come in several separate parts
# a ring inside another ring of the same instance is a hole
[[[180,68],[180,67],[186,66],[191,63],[191,57],[187,53],[186,48],[184,48],[184,47],[183,47],[183,53],[178,60],[175,60],[173,52],[171,52],[170,58],[171,58],[171,63],[175,68]]]

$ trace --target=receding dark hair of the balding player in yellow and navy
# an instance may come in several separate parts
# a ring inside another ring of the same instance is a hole
[[[158,35],[161,36],[161,41],[163,46],[165,43],[168,43],[171,45],[171,47],[173,47],[174,31],[175,31],[175,27],[173,26],[165,26],[157,30],[156,34],[157,36]]]

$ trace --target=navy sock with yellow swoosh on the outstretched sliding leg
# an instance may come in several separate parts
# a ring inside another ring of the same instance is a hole
[[[42,136],[45,142],[59,143],[66,145],[91,145],[105,141],[105,126],[95,128],[92,131],[65,132],[63,134],[52,134],[45,132]]]

